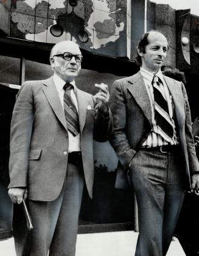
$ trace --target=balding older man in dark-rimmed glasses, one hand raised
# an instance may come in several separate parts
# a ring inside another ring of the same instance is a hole
[[[84,184],[92,197],[93,139],[107,140],[113,126],[108,87],[96,85],[93,96],[75,85],[79,46],[55,44],[50,62],[51,78],[22,85],[11,124],[9,195],[18,204],[27,197],[33,222],[26,237],[13,226],[23,256],[75,255]]]

